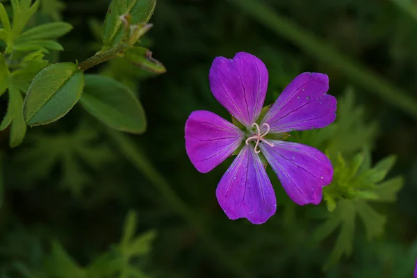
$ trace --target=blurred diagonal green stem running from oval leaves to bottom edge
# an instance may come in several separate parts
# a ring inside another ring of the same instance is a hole
[[[218,259],[220,263],[227,265],[229,270],[234,272],[236,277],[252,277],[242,265],[239,265],[236,261],[231,259],[231,256],[229,256],[227,252],[207,234],[202,221],[199,220],[197,215],[193,213],[193,210],[181,200],[174,190],[172,190],[170,184],[156,171],[139,147],[124,133],[113,129],[107,130],[111,138],[116,142],[117,147],[120,148],[122,154],[124,154],[126,158],[129,158],[131,163],[133,163],[133,165],[161,192],[167,202],[169,202],[171,206],[193,227],[193,229],[197,231],[199,236],[201,236],[206,245],[211,249],[211,252],[215,254],[215,259]]]

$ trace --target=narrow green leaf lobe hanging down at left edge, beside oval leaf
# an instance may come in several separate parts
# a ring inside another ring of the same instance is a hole
[[[26,123],[22,114],[23,98],[17,84],[13,82],[9,84],[8,95],[8,110],[6,117],[4,117],[3,122],[0,124],[0,131],[6,129],[11,123],[9,145],[10,147],[17,147],[23,142],[26,134]]]

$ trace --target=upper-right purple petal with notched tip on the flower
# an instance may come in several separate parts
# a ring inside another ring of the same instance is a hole
[[[269,124],[272,133],[325,127],[336,118],[336,98],[327,90],[326,74],[304,72],[279,95],[261,123]]]

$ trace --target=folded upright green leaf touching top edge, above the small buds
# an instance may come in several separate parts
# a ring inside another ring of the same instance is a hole
[[[154,13],[156,0],[113,0],[104,20],[104,49],[115,47],[124,33],[120,16],[130,14],[133,24],[145,24]]]

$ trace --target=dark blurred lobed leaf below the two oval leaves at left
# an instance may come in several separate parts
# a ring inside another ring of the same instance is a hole
[[[31,147],[17,156],[26,165],[24,181],[42,181],[45,172],[60,165],[60,185],[79,195],[94,178],[87,167],[98,170],[112,160],[111,149],[99,142],[100,133],[86,123],[72,133],[36,134],[28,138]],[[33,161],[37,161],[33,164]]]

